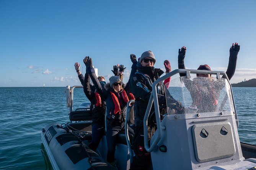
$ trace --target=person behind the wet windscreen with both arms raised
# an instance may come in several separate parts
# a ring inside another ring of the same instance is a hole
[[[238,52],[240,50],[240,45],[238,43],[233,43],[229,50],[229,61],[227,67],[227,77],[230,80],[235,74],[236,61]],[[185,69],[184,58],[186,55],[186,47],[183,46],[179,49],[178,55],[178,68]],[[200,65],[197,70],[208,70],[211,71],[209,65],[204,64]],[[186,76],[186,74],[179,74],[180,77]],[[218,98],[220,96],[220,91],[224,87],[225,81],[223,79],[218,79],[218,82],[215,81],[211,74],[196,74],[196,78],[193,80],[183,79],[184,85],[188,88],[193,109],[198,109],[198,112],[213,112],[218,109]],[[203,77],[208,77],[207,79]],[[221,81],[221,82],[220,82]]]

